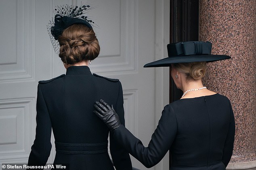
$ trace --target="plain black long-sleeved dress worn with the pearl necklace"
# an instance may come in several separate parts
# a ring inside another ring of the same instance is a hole
[[[147,168],[170,150],[170,170],[225,170],[233,152],[235,121],[229,99],[214,94],[166,105],[148,147],[122,125],[111,133]]]

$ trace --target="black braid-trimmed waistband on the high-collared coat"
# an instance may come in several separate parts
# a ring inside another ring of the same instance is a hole
[[[61,143],[55,141],[56,152],[61,154],[102,154],[107,152],[107,143]]]

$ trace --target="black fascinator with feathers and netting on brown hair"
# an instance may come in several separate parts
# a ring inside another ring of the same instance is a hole
[[[55,10],[53,10],[55,16],[47,25],[47,31],[50,35],[50,41],[52,42],[55,53],[59,53],[60,46],[58,37],[62,34],[64,29],[73,24],[84,24],[92,28],[94,22],[90,20],[88,16],[84,16],[90,9],[91,7],[89,5],[80,7],[69,4],[56,6]]]

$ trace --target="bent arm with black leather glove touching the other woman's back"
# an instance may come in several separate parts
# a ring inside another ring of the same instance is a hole
[[[164,107],[148,147],[145,147],[123,125],[119,124],[117,126],[116,123],[113,123],[114,120],[118,123],[118,118],[116,118],[115,111],[107,103],[101,100],[101,104],[98,102],[95,108],[97,111],[94,111],[94,113],[107,124],[114,139],[147,168],[156,165],[162,160],[175,139],[177,123],[174,111],[170,105]]]

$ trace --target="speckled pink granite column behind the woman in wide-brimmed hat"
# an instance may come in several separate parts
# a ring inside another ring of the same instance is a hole
[[[205,85],[227,96],[236,133],[227,169],[256,170],[256,0],[200,0],[199,40],[232,59],[208,63]]]

